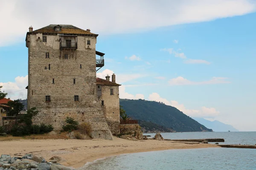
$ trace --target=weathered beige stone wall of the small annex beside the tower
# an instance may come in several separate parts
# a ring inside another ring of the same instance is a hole
[[[110,89],[113,89],[114,94],[110,95]],[[102,96],[100,100],[104,100],[103,111],[113,135],[120,133],[119,124],[119,86],[102,85]]]

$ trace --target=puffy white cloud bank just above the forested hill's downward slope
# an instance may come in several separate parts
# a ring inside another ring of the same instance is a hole
[[[214,117],[219,115],[219,111],[216,111],[215,108],[207,108],[205,106],[201,107],[200,109],[187,109],[183,104],[179,104],[177,101],[172,100],[169,101],[160,97],[157,93],[152,93],[148,96],[148,99],[151,101],[156,102],[163,102],[166,105],[173,106],[178,110],[182,111],[184,114],[192,117]]]

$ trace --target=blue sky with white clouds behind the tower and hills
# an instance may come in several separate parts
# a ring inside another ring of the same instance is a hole
[[[90,28],[121,99],[256,131],[256,0],[0,0],[0,85],[26,99],[29,26]]]

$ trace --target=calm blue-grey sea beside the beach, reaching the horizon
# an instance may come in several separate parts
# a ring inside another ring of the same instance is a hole
[[[224,138],[219,144],[256,144],[256,132],[161,133],[164,139]],[[148,133],[151,135],[155,133]],[[81,170],[256,170],[256,149],[200,148],[131,153],[89,162]]]

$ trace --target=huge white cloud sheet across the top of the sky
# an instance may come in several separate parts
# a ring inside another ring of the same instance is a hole
[[[90,8],[84,10],[85,6]],[[24,41],[31,25],[35,30],[72,24],[96,34],[117,34],[244,15],[255,8],[253,0],[1,0],[0,46]]]

